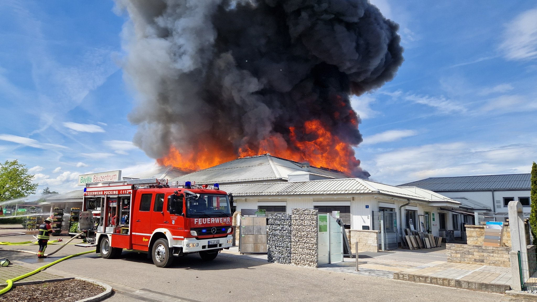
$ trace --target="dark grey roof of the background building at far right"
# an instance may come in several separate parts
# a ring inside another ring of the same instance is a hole
[[[398,186],[418,186],[435,192],[529,190],[531,175],[502,174],[456,177],[429,177]]]

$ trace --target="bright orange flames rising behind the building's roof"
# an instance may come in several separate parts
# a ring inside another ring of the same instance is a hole
[[[355,114],[350,114],[349,118],[352,124],[358,125]],[[306,136],[310,140],[299,141],[297,136],[301,138]],[[172,147],[167,156],[157,161],[165,166],[199,170],[234,160],[237,157],[237,154],[229,152],[231,148],[222,148],[216,144],[210,145],[211,148],[207,146],[209,145],[197,148],[196,154],[180,154],[175,147]],[[354,157],[352,147],[326,130],[320,120],[309,120],[300,129],[289,127],[289,142],[281,134],[277,134],[260,141],[255,148],[242,146],[238,150],[240,157],[265,153],[296,162],[309,162],[314,167],[339,170],[347,175],[352,175],[352,171],[360,164],[360,161]]]

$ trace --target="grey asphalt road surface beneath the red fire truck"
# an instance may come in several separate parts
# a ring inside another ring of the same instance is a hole
[[[18,242],[30,235],[10,236]],[[68,239],[68,238],[66,238]],[[75,240],[78,241],[78,240]],[[13,248],[14,246],[9,246]],[[37,251],[37,246],[16,246]],[[50,245],[47,252],[60,245]],[[0,250],[4,248],[0,246]],[[91,248],[68,245],[54,256],[0,251],[15,264],[38,268],[61,257]],[[107,302],[122,301],[509,301],[501,294],[452,289],[344,272],[266,263],[221,253],[204,262],[198,255],[177,258],[170,268],[157,268],[143,253],[127,252],[118,259],[86,254],[55,264],[49,274],[96,279],[110,284],[115,294]]]

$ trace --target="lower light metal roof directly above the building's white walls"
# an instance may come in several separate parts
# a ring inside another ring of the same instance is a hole
[[[361,178],[321,179],[306,182],[277,182],[221,185],[220,188],[233,196],[271,196],[271,195],[316,195],[316,194],[355,194],[380,193],[405,199],[424,202],[447,202],[459,205],[453,199],[437,193],[417,188],[400,188],[387,184],[366,181]],[[424,194],[426,192],[426,194]]]

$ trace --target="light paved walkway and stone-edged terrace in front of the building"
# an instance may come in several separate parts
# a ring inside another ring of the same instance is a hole
[[[267,261],[266,255],[240,255],[238,247],[224,250],[221,255]],[[512,282],[510,268],[447,262],[444,247],[362,252],[358,256],[359,271],[356,271],[355,258],[319,265],[318,269],[497,293],[505,293]]]

